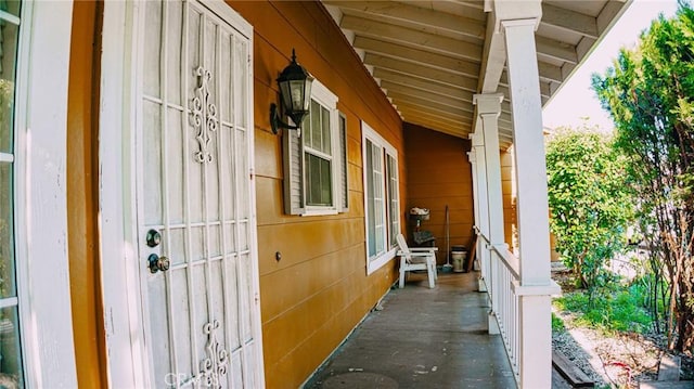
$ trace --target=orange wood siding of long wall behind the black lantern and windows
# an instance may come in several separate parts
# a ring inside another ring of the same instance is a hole
[[[268,388],[296,388],[396,281],[395,261],[367,276],[361,127],[397,150],[404,210],[402,122],[319,2],[229,1],[254,26],[255,165],[264,356]],[[275,79],[297,61],[338,96],[347,120],[349,211],[284,213],[282,131],[270,130]],[[282,259],[275,260],[275,252]]]

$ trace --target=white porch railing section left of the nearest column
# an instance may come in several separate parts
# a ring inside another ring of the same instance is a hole
[[[483,254],[478,257],[481,259],[479,261],[481,282],[485,283],[486,291],[491,301],[491,312],[496,319],[496,323],[493,323],[490,317],[490,326],[496,324],[499,328],[511,368],[513,368],[517,381],[519,378],[520,342],[518,330],[520,321],[518,320],[518,297],[515,294],[514,285],[518,285],[520,281],[520,263],[518,258],[509,251],[506,244],[491,245],[489,238],[479,229],[475,228],[475,230],[480,239],[477,244],[483,244],[480,246]],[[490,333],[494,333],[494,329],[491,328]]]

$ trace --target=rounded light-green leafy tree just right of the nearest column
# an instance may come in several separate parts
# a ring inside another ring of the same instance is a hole
[[[562,128],[547,145],[550,226],[556,250],[592,297],[609,274],[605,264],[627,248],[632,200],[624,158],[594,128]]]

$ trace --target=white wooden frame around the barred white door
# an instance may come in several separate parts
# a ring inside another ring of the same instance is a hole
[[[253,53],[253,27],[222,1],[205,1],[205,5],[249,39]],[[143,26],[144,2],[104,2],[103,54],[101,61],[100,107],[100,218],[101,283],[104,300],[107,379],[113,388],[151,387],[146,353],[145,327],[147,322],[141,298],[140,272],[144,269],[138,258],[137,181],[134,166],[134,130],[138,126],[137,104],[139,73],[138,38]],[[253,60],[249,81],[253,80]],[[253,88],[248,101],[253,102]],[[253,104],[247,104],[250,118],[248,131],[249,174],[254,172]],[[250,181],[253,287],[256,309],[254,337],[259,352],[256,366],[260,371],[259,385],[265,387],[262,337],[260,326],[257,222],[255,179]]]

